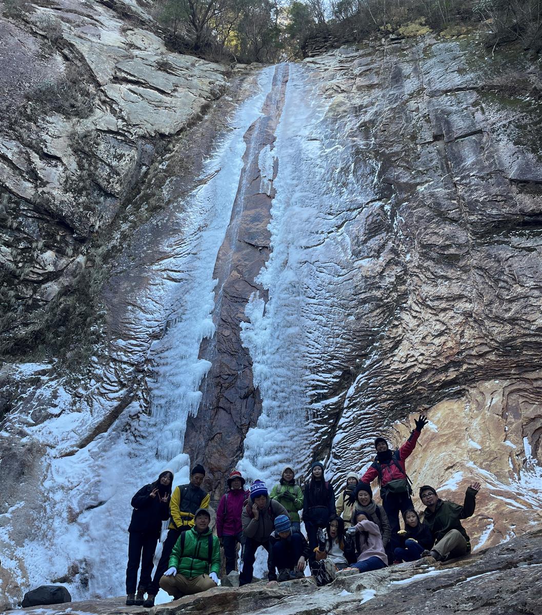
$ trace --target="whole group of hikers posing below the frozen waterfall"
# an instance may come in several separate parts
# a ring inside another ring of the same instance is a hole
[[[304,488],[298,485],[293,467],[284,467],[270,493],[262,480],[245,489],[245,478],[234,470],[218,504],[217,536],[210,529],[209,494],[201,488],[204,467],[194,466],[188,485],[177,486],[173,493],[173,472],[164,470],[132,498],[126,604],[153,606],[159,587],[175,599],[216,587],[221,547],[229,574],[236,568],[239,544],[239,585],[252,582],[260,547],[268,554],[269,584],[305,576],[306,565],[317,584],[325,585],[343,569],[366,572],[421,557],[441,561],[468,554],[469,536],[461,520],[474,513],[479,483],[466,490],[463,505],[442,501],[432,486],[421,486],[423,522],[412,502],[405,460],[427,423],[420,416],[397,450],[391,450],[385,438],[376,438],[371,466],[361,478],[349,473],[337,497],[325,480],[321,462],[311,466]],[[370,483],[375,479],[382,504],[373,501]],[[300,512],[306,538],[301,533]],[[167,537],[151,578],[162,521],[168,519]]]

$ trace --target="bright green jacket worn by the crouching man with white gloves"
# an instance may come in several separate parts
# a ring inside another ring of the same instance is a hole
[[[196,528],[187,530],[185,544],[182,546],[183,534],[179,536],[169,556],[169,566],[177,568],[177,574],[191,579],[200,574],[220,574],[220,543],[210,530],[198,534]],[[212,552],[209,550],[209,536],[212,536]],[[210,562],[209,562],[210,560]]]

